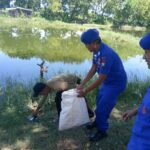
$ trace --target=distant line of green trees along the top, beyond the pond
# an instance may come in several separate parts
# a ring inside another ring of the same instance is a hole
[[[48,20],[150,27],[150,0],[16,0],[15,6]],[[9,0],[0,0],[0,8],[6,7]]]

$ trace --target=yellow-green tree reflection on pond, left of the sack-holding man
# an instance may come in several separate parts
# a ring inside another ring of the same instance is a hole
[[[11,57],[39,57],[48,61],[82,61],[81,31],[32,28],[0,30],[0,49]],[[77,55],[77,54],[81,55]],[[89,58],[86,54],[85,58]],[[77,57],[75,57],[77,56]]]

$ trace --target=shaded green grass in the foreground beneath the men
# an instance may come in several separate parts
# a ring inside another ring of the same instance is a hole
[[[31,87],[19,82],[7,80],[6,87],[0,90],[0,148],[11,150],[125,150],[130,138],[134,118],[128,122],[122,120],[122,114],[138,105],[150,81],[129,83],[119,97],[110,117],[109,137],[96,143],[87,138],[84,126],[58,131],[57,113],[54,96],[50,95],[43,108],[44,115],[39,122],[27,122],[27,104],[31,102]],[[135,91],[136,89],[136,91]],[[90,105],[95,107],[95,93],[88,95]]]

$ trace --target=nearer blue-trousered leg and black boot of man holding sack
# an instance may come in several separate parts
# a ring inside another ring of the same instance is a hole
[[[91,135],[91,141],[97,141],[106,137],[106,131],[109,127],[108,119],[119,95],[117,88],[105,87],[99,91],[96,106],[96,127],[97,132]]]

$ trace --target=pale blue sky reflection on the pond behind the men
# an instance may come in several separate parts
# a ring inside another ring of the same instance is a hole
[[[39,79],[41,77],[41,72],[39,65],[37,64],[41,64],[40,58],[10,58],[8,55],[0,52],[0,82],[5,81],[8,77],[22,82]],[[91,66],[91,61],[84,60],[81,63],[44,61],[44,66],[47,67],[48,70],[43,72],[42,77],[49,79],[60,72],[71,72],[79,75],[85,75]],[[135,79],[146,80],[150,75],[150,70],[140,55],[131,57],[127,61],[124,61],[124,67],[129,81]]]

